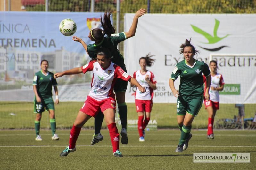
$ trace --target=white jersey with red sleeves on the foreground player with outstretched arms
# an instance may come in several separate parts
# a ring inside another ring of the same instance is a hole
[[[121,78],[125,81],[131,78],[121,67],[112,62],[107,69],[103,70],[97,61],[91,61],[82,66],[82,70],[83,73],[93,71],[92,89],[89,92],[89,96],[97,101],[109,97],[115,98],[113,87],[117,78]]]

